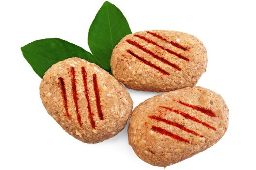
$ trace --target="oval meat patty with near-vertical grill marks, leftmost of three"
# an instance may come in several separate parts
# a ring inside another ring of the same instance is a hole
[[[73,137],[97,143],[127,124],[133,102],[128,91],[107,71],[80,58],[49,68],[40,85],[48,113]]]

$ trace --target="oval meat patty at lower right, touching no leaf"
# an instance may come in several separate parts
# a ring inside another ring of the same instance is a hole
[[[129,144],[145,162],[166,167],[211,147],[228,127],[221,96],[196,86],[142,102],[131,114]]]

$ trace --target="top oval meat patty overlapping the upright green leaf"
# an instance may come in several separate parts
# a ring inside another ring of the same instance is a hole
[[[152,30],[125,36],[110,63],[114,77],[128,88],[163,92],[196,85],[207,56],[193,35]]]

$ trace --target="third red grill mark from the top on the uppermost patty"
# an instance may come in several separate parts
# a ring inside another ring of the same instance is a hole
[[[155,59],[160,60],[161,62],[163,62],[163,63],[165,63],[165,64],[171,66],[172,68],[175,68],[175,69],[177,69],[177,70],[179,70],[179,71],[181,70],[181,68],[180,68],[179,66],[177,66],[176,64],[169,62],[168,60],[166,60],[166,59],[164,59],[164,58],[158,56],[157,54],[155,54],[154,52],[152,52],[152,51],[150,51],[150,50],[147,50],[146,48],[144,48],[143,46],[141,46],[139,43],[137,43],[137,42],[135,42],[135,41],[132,41],[132,40],[130,40],[130,39],[127,39],[126,42],[128,42],[130,45],[133,45],[133,46],[137,47],[138,49],[140,49],[140,50],[142,50],[142,51],[144,51],[144,52],[146,52],[146,53],[152,55]]]

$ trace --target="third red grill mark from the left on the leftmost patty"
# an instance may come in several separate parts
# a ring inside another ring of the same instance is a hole
[[[81,70],[82,70],[83,83],[84,83],[84,88],[85,88],[85,97],[86,97],[86,100],[87,100],[87,109],[88,109],[88,112],[89,112],[88,118],[90,120],[91,127],[93,129],[95,129],[95,122],[94,122],[94,119],[93,119],[93,113],[91,112],[90,96],[89,96],[89,90],[88,90],[88,86],[87,86],[87,72],[85,71],[84,67],[82,67]]]

